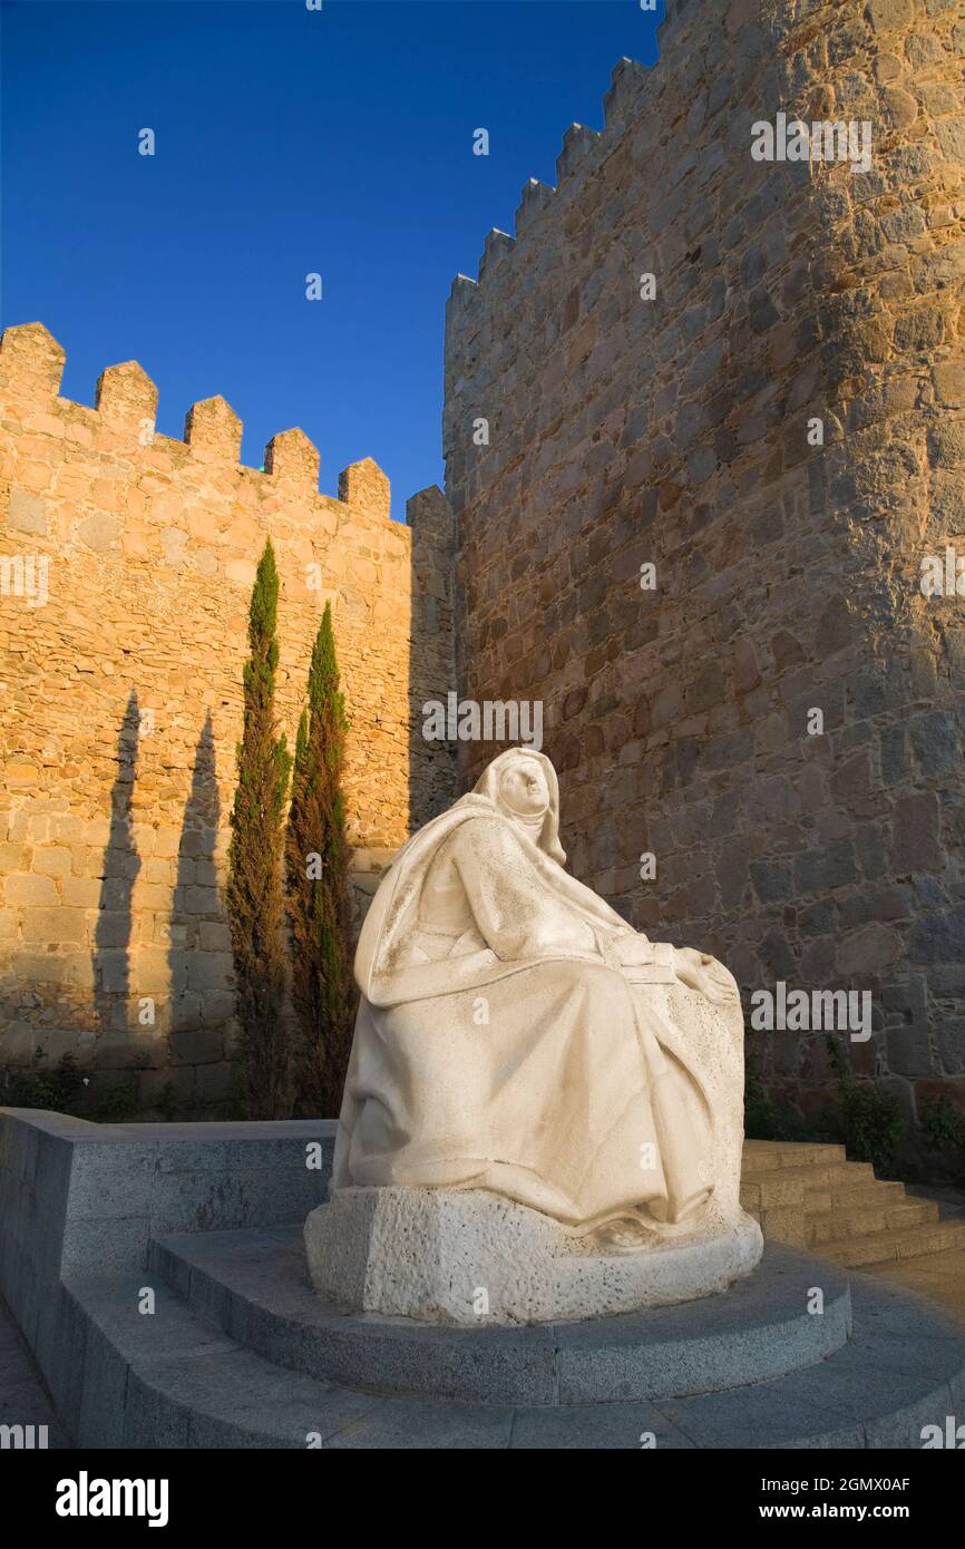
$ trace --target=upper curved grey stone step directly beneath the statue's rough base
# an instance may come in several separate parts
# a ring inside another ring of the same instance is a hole
[[[612,1403],[767,1382],[824,1360],[850,1331],[847,1281],[770,1247],[726,1295],[581,1323],[454,1329],[347,1314],[311,1289],[299,1228],[152,1244],[201,1317],[256,1354],[353,1388],[507,1403]],[[809,1314],[818,1284],[824,1314]]]

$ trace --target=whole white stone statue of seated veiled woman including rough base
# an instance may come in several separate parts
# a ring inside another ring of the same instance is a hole
[[[737,1197],[737,987],[564,861],[556,771],[513,748],[383,877],[331,1202],[305,1228],[335,1301],[593,1317],[720,1290],[761,1258]]]

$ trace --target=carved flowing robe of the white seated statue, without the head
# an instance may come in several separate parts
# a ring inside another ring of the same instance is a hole
[[[480,795],[400,850],[355,959],[333,1188],[485,1188],[572,1228],[692,1218],[711,1111],[635,932]]]

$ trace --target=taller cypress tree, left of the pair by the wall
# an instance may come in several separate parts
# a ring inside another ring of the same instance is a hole
[[[285,948],[282,942],[282,815],[291,757],[277,736],[274,678],[279,573],[271,539],[259,562],[245,663],[245,725],[228,849],[228,917],[240,1024],[239,1077],[248,1118],[288,1114]]]

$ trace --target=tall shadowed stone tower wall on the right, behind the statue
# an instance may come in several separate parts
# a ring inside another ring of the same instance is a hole
[[[965,556],[962,6],[668,9],[452,288],[460,692],[544,702],[572,867],[638,928],[748,1001],[867,990],[843,1047],[915,1117],[965,1104],[965,599],[919,584]],[[871,164],[754,160],[779,113]],[[822,1033],[764,1060],[827,1101]]]

